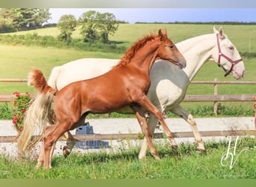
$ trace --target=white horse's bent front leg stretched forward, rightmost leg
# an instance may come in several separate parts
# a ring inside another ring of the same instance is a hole
[[[198,126],[196,125],[195,120],[192,117],[192,114],[189,114],[189,112],[187,112],[181,105],[178,105],[176,108],[172,109],[171,112],[182,117],[184,120],[186,120],[187,123],[189,123],[195,137],[195,144],[198,146],[197,149],[201,153],[204,153],[204,143],[202,141],[200,133],[198,132]]]

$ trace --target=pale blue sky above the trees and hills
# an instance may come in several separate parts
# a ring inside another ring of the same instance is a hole
[[[50,8],[57,23],[62,15],[72,14],[78,19],[82,13],[96,10],[113,13],[117,20],[135,22],[256,22],[256,8]]]

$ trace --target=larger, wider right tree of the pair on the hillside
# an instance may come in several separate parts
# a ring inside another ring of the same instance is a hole
[[[99,13],[90,10],[79,17],[79,25],[82,25],[81,32],[85,42],[100,40],[103,43],[109,41],[109,34],[118,30],[118,22],[112,13]]]

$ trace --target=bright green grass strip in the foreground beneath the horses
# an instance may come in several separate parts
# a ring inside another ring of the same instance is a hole
[[[234,141],[232,141],[234,144]],[[166,143],[157,144],[162,160],[148,155],[138,161],[138,147],[118,153],[72,153],[67,159],[54,156],[52,169],[35,169],[36,161],[13,160],[0,156],[1,179],[255,179],[255,138],[243,138],[241,153],[234,168],[223,167],[220,159],[228,149],[228,141],[205,143],[207,153],[196,153],[192,144],[180,144],[177,151]],[[233,153],[233,152],[232,152]]]

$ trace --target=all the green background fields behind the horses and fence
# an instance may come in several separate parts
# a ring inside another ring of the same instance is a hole
[[[168,37],[175,43],[201,34],[213,33],[213,26],[217,29],[221,25],[193,25],[193,24],[121,24],[118,31],[109,39],[118,46],[128,48],[139,37],[149,32],[156,32],[159,28],[167,29]],[[224,31],[240,52],[256,52],[256,25],[223,25]],[[34,31],[22,31],[13,34],[37,33],[38,35],[52,35],[57,37],[58,28],[43,28]],[[79,37],[79,29],[73,34]],[[76,49],[57,49],[53,47],[19,46],[0,44],[0,78],[27,77],[31,67],[43,70],[48,77],[52,67],[65,64],[79,58],[121,58],[122,54],[107,52],[87,52]],[[243,56],[242,56],[243,58]],[[243,59],[246,65],[246,75],[243,81],[255,81],[255,58]],[[194,80],[225,80],[235,81],[232,76],[224,77],[224,72],[213,62],[207,62],[195,76]],[[203,89],[202,89],[203,88]],[[0,93],[28,91],[34,93],[25,83],[1,83]],[[255,85],[219,85],[219,94],[256,93]],[[213,85],[189,85],[187,94],[213,94]],[[211,105],[211,103],[186,102],[187,108],[195,105]],[[227,105],[241,105],[241,103],[225,103]],[[244,108],[252,108],[252,102],[243,103]]]

